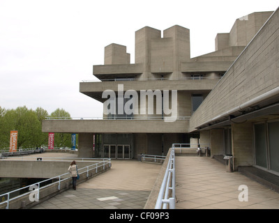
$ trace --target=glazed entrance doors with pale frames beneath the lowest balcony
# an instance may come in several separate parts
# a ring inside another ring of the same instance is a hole
[[[104,145],[104,157],[130,159],[130,145]]]

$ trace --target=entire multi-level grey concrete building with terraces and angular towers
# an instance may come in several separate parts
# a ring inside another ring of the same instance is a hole
[[[43,132],[78,133],[80,157],[165,155],[197,139],[211,156],[233,154],[234,169],[279,171],[278,21],[278,10],[241,17],[217,34],[215,52],[195,58],[189,29],[175,25],[162,37],[146,26],[135,32],[135,63],[113,43],[104,65],[93,66],[100,82],[80,83],[104,103],[103,119],[45,120]]]

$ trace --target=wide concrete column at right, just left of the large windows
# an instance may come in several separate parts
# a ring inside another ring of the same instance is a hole
[[[234,171],[241,166],[253,164],[252,123],[232,123],[232,155],[234,155]]]

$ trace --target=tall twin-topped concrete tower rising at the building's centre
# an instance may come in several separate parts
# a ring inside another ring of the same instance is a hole
[[[181,76],[181,61],[190,60],[190,31],[182,26],[172,26],[161,31],[144,27],[135,32],[135,63],[143,63],[141,78],[158,77],[159,73],[172,73],[170,79]]]

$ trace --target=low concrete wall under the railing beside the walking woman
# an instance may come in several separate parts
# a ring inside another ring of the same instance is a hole
[[[80,179],[77,180],[77,185],[80,183],[83,183],[84,181],[88,180],[89,178],[93,178],[94,176],[97,176],[98,174],[101,174],[105,171],[110,169],[110,164],[105,164],[105,169],[103,167],[98,167],[98,169],[93,169],[89,171],[89,176],[86,176],[86,173],[80,174]],[[72,183],[72,178],[68,178],[66,180],[63,180],[60,185],[60,190],[58,189],[58,183],[55,183],[54,185],[50,185],[48,187],[45,187],[43,189],[40,189],[40,197],[39,201],[30,201],[29,194],[22,197],[18,197],[17,199],[14,199],[13,201],[10,201],[9,203],[9,209],[26,209],[31,208],[33,206],[36,206],[39,203],[42,203],[43,201],[46,201],[47,199],[50,199],[51,197],[54,197],[56,194],[60,194],[61,192],[64,192],[68,189],[70,189]],[[5,209],[7,206],[7,203],[0,204],[0,209]]]

